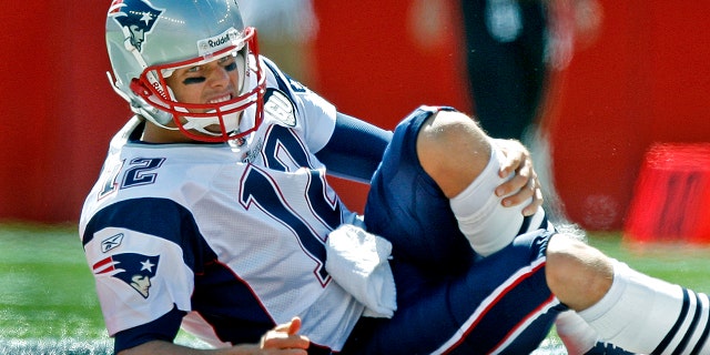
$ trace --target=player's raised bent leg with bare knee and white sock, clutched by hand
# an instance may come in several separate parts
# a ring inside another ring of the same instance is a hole
[[[499,176],[505,155],[471,118],[438,112],[422,125],[416,149],[416,163],[449,199],[458,229],[478,255],[488,256],[516,235],[547,224],[541,209],[526,219],[527,203],[503,206],[504,196],[494,191],[513,174]]]

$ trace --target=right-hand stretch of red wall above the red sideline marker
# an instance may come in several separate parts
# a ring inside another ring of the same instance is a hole
[[[652,143],[710,142],[710,2],[600,3],[600,37],[575,53],[547,123],[568,216],[613,231]]]

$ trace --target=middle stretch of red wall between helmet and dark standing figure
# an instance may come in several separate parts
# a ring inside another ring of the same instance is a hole
[[[342,112],[392,130],[422,104],[470,112],[458,6],[453,1],[314,1],[317,81]],[[353,142],[357,144],[356,142]],[[352,210],[367,186],[334,181]]]

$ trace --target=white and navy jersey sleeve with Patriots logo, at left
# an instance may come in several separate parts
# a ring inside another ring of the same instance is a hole
[[[123,201],[99,211],[85,229],[84,252],[111,336],[150,325],[173,310],[191,311],[195,254],[181,242],[192,232],[175,204]],[[176,329],[180,318],[170,320]]]

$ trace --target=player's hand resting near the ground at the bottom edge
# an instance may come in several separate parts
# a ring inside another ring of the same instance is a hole
[[[265,351],[262,354],[306,355],[311,341],[304,335],[298,335],[300,329],[301,318],[294,317],[291,322],[266,332],[260,343],[260,348]],[[276,352],[270,352],[272,349]]]

